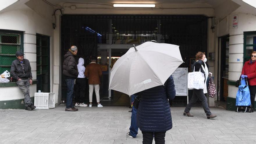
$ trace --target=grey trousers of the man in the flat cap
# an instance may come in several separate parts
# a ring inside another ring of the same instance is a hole
[[[29,79],[22,79],[17,81],[16,83],[24,95],[25,106],[29,106],[33,104],[31,102],[30,95],[29,95],[29,85],[30,85]]]

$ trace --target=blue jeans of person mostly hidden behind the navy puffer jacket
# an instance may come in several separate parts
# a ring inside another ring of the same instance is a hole
[[[136,95],[131,95],[131,102],[134,102]],[[137,109],[132,107],[131,110],[131,126],[130,126],[130,135],[136,137],[138,134],[138,125],[137,125]]]

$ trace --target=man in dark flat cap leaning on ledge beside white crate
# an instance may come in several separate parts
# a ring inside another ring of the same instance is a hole
[[[17,59],[12,62],[10,74],[17,80],[17,85],[24,94],[25,106],[28,111],[36,107],[33,105],[29,95],[29,85],[32,84],[32,73],[29,60],[24,59],[21,51],[16,52]]]

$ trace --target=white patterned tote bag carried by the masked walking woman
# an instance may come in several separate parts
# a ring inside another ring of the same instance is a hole
[[[205,75],[201,72],[199,69],[199,72],[195,72],[195,67],[194,67],[194,72],[189,72],[188,74],[188,89],[193,90],[193,89],[204,89],[205,86]]]

